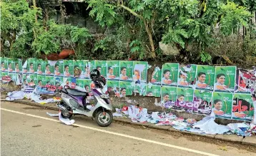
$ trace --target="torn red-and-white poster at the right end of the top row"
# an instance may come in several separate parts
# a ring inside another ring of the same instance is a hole
[[[256,73],[254,70],[237,69],[235,93],[254,93],[256,91]]]

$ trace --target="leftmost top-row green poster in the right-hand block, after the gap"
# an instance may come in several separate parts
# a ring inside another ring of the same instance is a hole
[[[162,66],[162,85],[177,86],[179,63],[164,63]]]

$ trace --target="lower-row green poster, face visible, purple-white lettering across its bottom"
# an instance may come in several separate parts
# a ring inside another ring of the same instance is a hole
[[[194,90],[192,88],[177,88],[177,100],[174,109],[186,110],[192,113],[192,110],[197,110],[194,106]]]

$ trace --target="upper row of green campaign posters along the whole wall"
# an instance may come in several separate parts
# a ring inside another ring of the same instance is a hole
[[[43,61],[29,58],[23,66],[21,62],[19,59],[1,58],[1,71],[89,79],[89,72],[97,68],[107,80],[134,81],[136,85],[143,86],[147,83],[149,67],[144,61]],[[225,93],[254,93],[256,90],[255,73],[237,69],[236,66],[164,63],[162,69],[154,68],[151,77],[152,85]]]

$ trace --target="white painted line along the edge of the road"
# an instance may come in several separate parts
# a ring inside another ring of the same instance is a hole
[[[58,122],[58,123],[60,122],[59,120],[55,120],[55,119],[51,119],[51,118],[44,118],[44,117],[41,117],[41,116],[27,114],[27,113],[21,113],[21,112],[15,111],[15,110],[8,110],[8,109],[5,109],[5,108],[0,108],[0,109],[11,112],[11,113],[17,113],[17,114],[21,114],[21,115],[31,116],[31,117],[34,117],[34,118],[50,120],[50,121],[54,121],[54,122]],[[134,137],[134,136],[131,136],[131,135],[124,135],[124,134],[117,133],[117,132],[110,132],[110,131],[107,131],[107,130],[101,130],[101,129],[98,129],[98,128],[92,128],[92,127],[79,125],[79,124],[73,124],[73,125],[79,126],[80,128],[86,128],[86,129],[95,130],[95,131],[98,131],[98,132],[105,132],[105,133],[108,133],[108,134],[111,134],[111,135],[117,135],[117,136],[127,137],[127,138],[134,139],[134,140],[139,140],[139,141],[149,142],[149,143],[153,143],[153,144],[157,144],[157,145],[162,145],[162,146],[166,146],[166,147],[172,147],[172,148],[176,148],[176,149],[179,149],[179,150],[185,150],[187,152],[194,152],[194,153],[201,154],[201,155],[218,156],[218,155],[214,155],[214,154],[211,154],[211,153],[202,152],[202,151],[199,151],[199,150],[192,150],[192,149],[189,149],[189,148],[186,148],[186,147],[179,147],[179,146],[170,145],[170,144],[163,143],[163,142],[157,142],[157,141],[153,141],[153,140],[143,139],[143,138],[140,138],[140,137]]]

